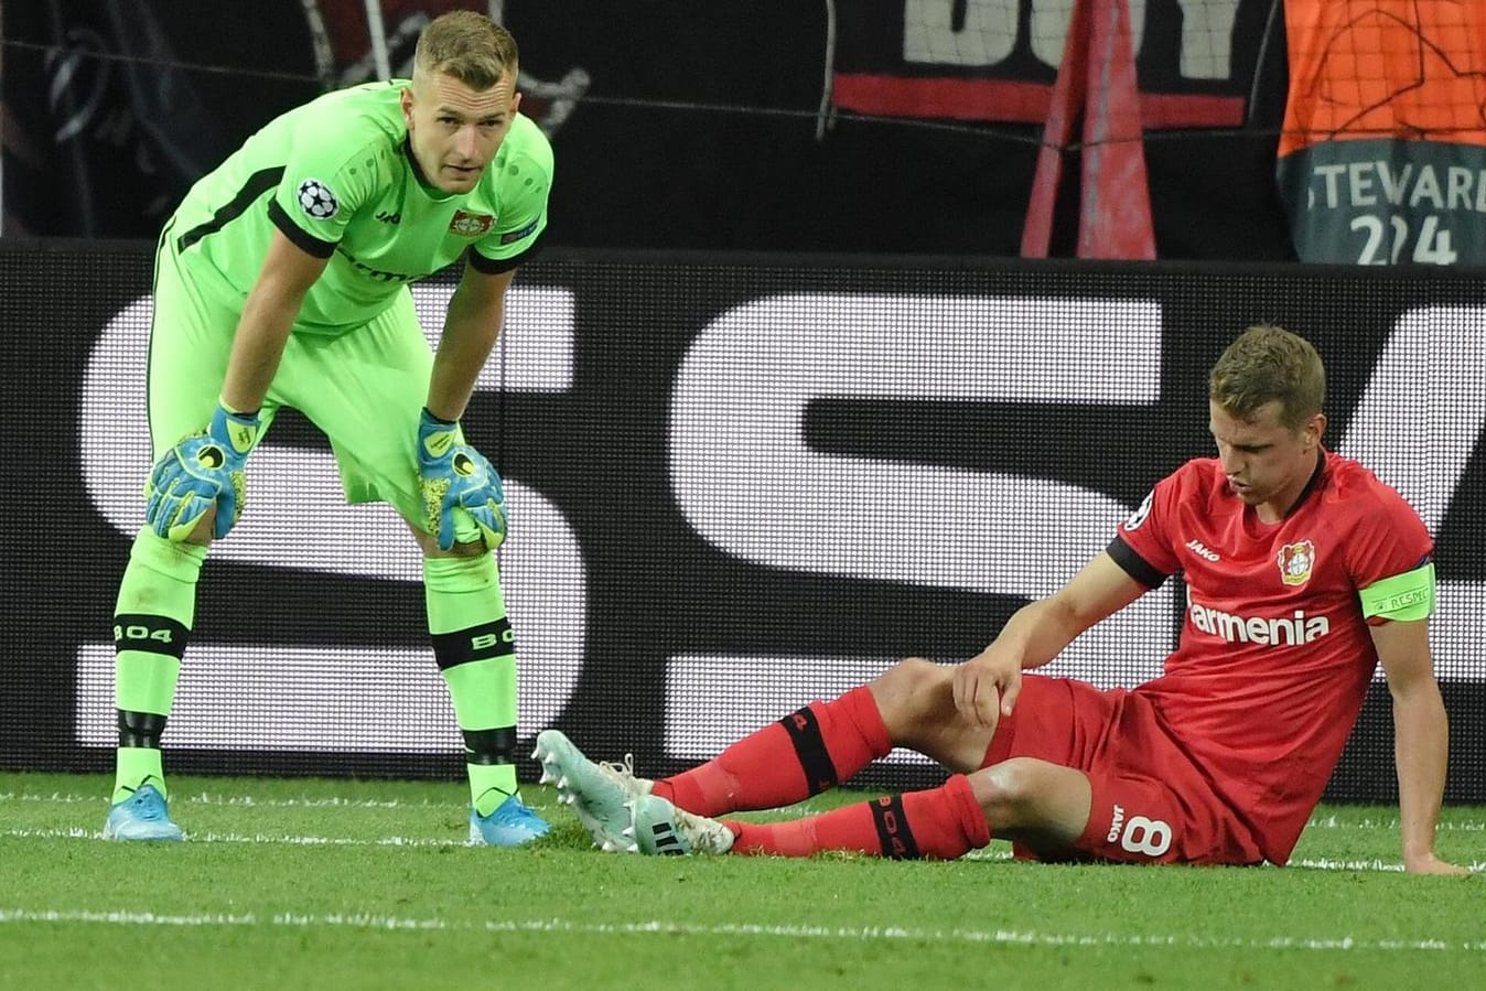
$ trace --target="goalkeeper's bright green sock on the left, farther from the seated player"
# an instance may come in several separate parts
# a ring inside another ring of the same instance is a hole
[[[149,780],[162,795],[160,734],[175,701],[181,654],[196,618],[196,579],[207,548],[144,529],[129,548],[113,614],[119,749],[113,801]]]

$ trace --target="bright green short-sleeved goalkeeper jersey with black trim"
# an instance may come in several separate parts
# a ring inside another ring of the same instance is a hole
[[[407,85],[325,94],[269,122],[198,180],[165,233],[198,284],[245,300],[276,227],[328,257],[294,330],[339,334],[465,250],[480,270],[516,267],[547,226],[547,135],[516,114],[480,183],[444,193],[413,162],[401,105]]]

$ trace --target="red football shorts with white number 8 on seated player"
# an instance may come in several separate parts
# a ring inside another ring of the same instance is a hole
[[[1207,774],[1162,727],[1150,700],[1123,688],[1024,675],[982,767],[1008,758],[1074,767],[1094,786],[1089,822],[1067,859],[1131,863],[1259,863],[1259,844]],[[1016,856],[1037,856],[1016,847]],[[1046,853],[1042,854],[1046,859]]]

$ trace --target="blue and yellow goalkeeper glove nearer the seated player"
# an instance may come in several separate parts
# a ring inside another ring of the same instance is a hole
[[[428,530],[438,538],[440,550],[455,545],[455,510],[474,519],[487,548],[505,539],[501,475],[484,455],[464,443],[458,420],[441,420],[426,407],[418,420],[418,483]]]

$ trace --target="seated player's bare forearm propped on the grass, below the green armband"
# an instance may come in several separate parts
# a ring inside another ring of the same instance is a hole
[[[1449,747],[1449,721],[1433,679],[1394,695],[1394,759],[1404,866],[1434,851]]]

